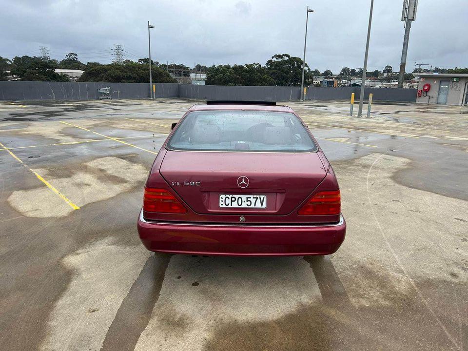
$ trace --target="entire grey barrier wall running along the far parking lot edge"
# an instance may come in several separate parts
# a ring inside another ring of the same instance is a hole
[[[192,98],[201,100],[299,100],[299,87],[219,86],[157,83],[156,98]],[[147,83],[78,83],[0,81],[0,100],[94,100],[98,88],[111,88],[112,98],[149,98]],[[309,87],[307,100],[348,100],[351,93],[359,98],[360,87]],[[374,100],[416,101],[416,89],[370,88]]]

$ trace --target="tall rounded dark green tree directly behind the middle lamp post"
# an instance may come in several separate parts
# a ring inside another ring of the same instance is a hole
[[[313,81],[313,75],[310,73],[307,63],[304,65],[304,85],[310,85]],[[273,78],[277,86],[300,86],[302,79],[302,59],[288,54],[273,55],[268,60],[265,68]]]

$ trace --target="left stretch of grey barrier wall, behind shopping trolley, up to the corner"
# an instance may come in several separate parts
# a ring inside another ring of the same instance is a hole
[[[0,81],[0,100],[94,100],[98,88],[110,87],[112,98],[149,98],[146,83],[78,83]],[[178,95],[178,84],[156,84],[156,97]]]

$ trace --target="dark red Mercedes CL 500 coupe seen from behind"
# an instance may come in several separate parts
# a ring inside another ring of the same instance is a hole
[[[138,233],[148,250],[325,255],[345,238],[338,182],[300,117],[274,102],[189,108],[146,181]]]

